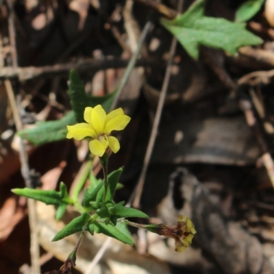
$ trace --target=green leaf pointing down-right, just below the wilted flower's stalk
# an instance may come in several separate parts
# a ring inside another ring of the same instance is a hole
[[[131,237],[123,234],[117,227],[109,223],[108,225],[105,225],[104,223],[93,223],[95,227],[95,232],[97,233],[103,233],[107,236],[110,236],[112,238],[116,238],[117,240],[121,240],[121,242],[128,244],[128,245],[134,245],[134,241]]]

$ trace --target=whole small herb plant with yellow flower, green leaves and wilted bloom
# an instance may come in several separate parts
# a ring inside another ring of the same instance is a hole
[[[69,255],[59,273],[71,271],[75,266],[76,252],[85,232],[94,235],[103,233],[121,242],[134,245],[134,240],[125,233],[126,225],[140,227],[160,234],[162,236],[175,239],[175,251],[184,251],[192,242],[196,233],[194,225],[186,216],[179,216],[177,225],[142,225],[128,221],[127,218],[137,217],[149,219],[144,212],[135,208],[125,206],[125,202],[114,202],[114,195],[119,188],[119,177],[123,168],[108,173],[108,161],[111,152],[118,152],[120,149],[119,140],[111,136],[114,130],[123,130],[130,121],[130,117],[125,115],[121,108],[113,110],[109,114],[105,113],[102,105],[94,108],[84,109],[85,123],[77,123],[67,126],[66,138],[82,140],[90,138],[89,149],[93,155],[99,156],[103,169],[103,179],[92,177],[88,188],[84,188],[84,198],[79,202],[79,193],[84,187],[85,180],[79,182],[75,187],[71,197],[68,194],[66,185],[60,184],[60,191],[55,190],[36,190],[32,188],[16,188],[12,190],[17,195],[42,201],[47,205],[56,206],[56,219],[60,220],[66,210],[66,206],[73,205],[77,208],[79,216],[68,223],[55,235],[53,241],[82,232],[75,249]],[[90,166],[89,166],[90,167]],[[92,173],[90,169],[90,173]]]

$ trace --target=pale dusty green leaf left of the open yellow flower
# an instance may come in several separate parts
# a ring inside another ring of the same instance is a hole
[[[68,112],[58,121],[37,123],[36,127],[23,129],[17,132],[18,136],[32,142],[34,145],[42,145],[47,142],[55,142],[66,138],[66,125],[77,123],[73,112]]]

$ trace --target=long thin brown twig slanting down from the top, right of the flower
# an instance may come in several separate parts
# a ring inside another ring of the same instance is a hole
[[[182,5],[183,5],[183,0],[180,0],[179,3],[178,3],[178,11],[179,12],[182,11]],[[156,114],[155,114],[155,119],[153,121],[151,136],[149,138],[149,145],[147,145],[147,151],[146,151],[146,154],[145,154],[145,160],[144,160],[144,163],[143,163],[143,166],[142,166],[142,171],[141,171],[140,177],[138,179],[138,184],[137,184],[137,186],[134,190],[134,193],[133,193],[133,195],[135,195],[134,201],[133,201],[134,208],[139,208],[140,207],[140,197],[142,195],[142,188],[145,184],[145,177],[147,175],[147,169],[149,167],[151,154],[152,154],[153,147],[154,147],[154,144],[155,144],[155,139],[156,139],[156,136],[157,136],[157,133],[158,133],[158,127],[159,127],[159,123],[160,123],[160,119],[161,119],[161,115],[162,115],[162,109],[163,109],[163,106],[164,106],[164,99],[166,98],[166,92],[167,92],[167,88],[169,87],[169,80],[171,78],[173,56],[175,54],[176,46],[177,46],[177,39],[174,36],[173,40],[171,42],[169,62],[167,64],[166,73],[164,75],[164,82],[163,82],[163,85],[162,85],[160,99],[158,101],[158,106],[157,106],[157,110],[156,110]],[[129,201],[129,203],[130,202],[131,201]]]

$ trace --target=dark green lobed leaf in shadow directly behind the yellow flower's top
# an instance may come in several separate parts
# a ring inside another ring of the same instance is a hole
[[[93,108],[95,105],[102,105],[105,112],[109,112],[116,96],[116,91],[103,97],[86,95],[84,82],[82,82],[75,69],[71,69],[69,75],[69,96],[75,112],[75,119],[78,123],[82,123],[84,122],[84,110],[87,106]]]

